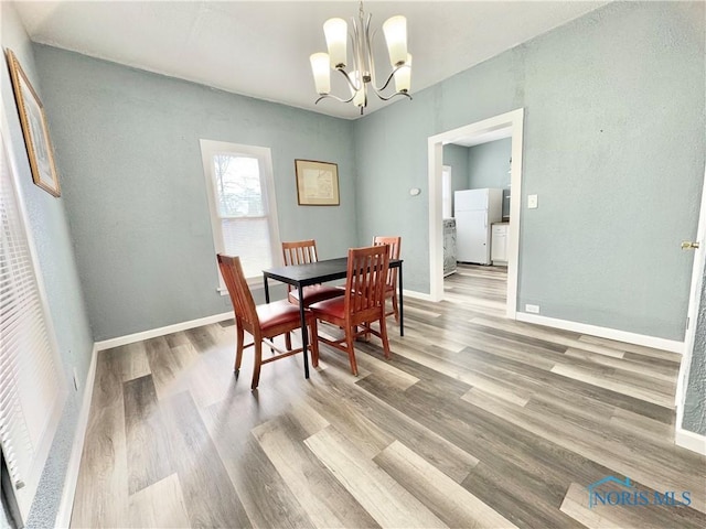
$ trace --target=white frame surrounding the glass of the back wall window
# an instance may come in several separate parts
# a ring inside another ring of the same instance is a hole
[[[206,194],[208,199],[208,212],[211,216],[211,231],[213,235],[213,245],[216,253],[225,251],[225,241],[223,238],[222,218],[218,213],[217,193],[215,186],[215,172],[213,165],[213,156],[216,154],[244,155],[256,158],[259,162],[260,170],[260,188],[263,192],[263,206],[265,208],[264,217],[267,218],[269,228],[270,252],[272,257],[272,267],[281,266],[281,244],[279,238],[279,219],[277,216],[277,197],[275,194],[275,172],[272,170],[272,154],[268,147],[246,145],[242,143],[232,143],[228,141],[200,140],[201,156],[203,162],[204,177],[206,180]],[[260,218],[260,217],[258,217]],[[218,278],[216,290],[221,295],[227,295],[226,288],[218,266],[214,256],[214,268]],[[263,276],[247,278],[247,282],[252,287],[260,287],[263,284]]]

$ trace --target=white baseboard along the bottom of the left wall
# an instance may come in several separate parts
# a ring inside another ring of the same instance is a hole
[[[54,527],[68,528],[71,525],[71,516],[74,509],[74,496],[76,494],[76,483],[78,482],[78,471],[81,468],[81,456],[84,451],[84,441],[86,439],[86,429],[88,428],[88,415],[90,412],[90,400],[93,398],[93,388],[96,381],[96,364],[98,358],[98,348],[96,344],[90,353],[90,366],[88,375],[84,382],[84,398],[78,411],[78,421],[76,422],[76,432],[74,433],[74,442],[71,455],[68,456],[68,465],[66,475],[64,476],[64,488],[62,490],[62,499],[58,504],[58,512]]]

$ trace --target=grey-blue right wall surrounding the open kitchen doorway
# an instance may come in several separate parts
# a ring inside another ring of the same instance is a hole
[[[428,203],[405,193],[427,190],[427,138],[524,107],[517,307],[682,341],[704,36],[703,2],[611,3],[355,121],[361,237],[400,233],[405,285],[428,292]]]

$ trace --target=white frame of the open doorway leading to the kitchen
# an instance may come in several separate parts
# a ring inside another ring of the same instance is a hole
[[[515,320],[517,313],[517,269],[520,261],[520,213],[522,206],[522,141],[524,108],[448,130],[428,138],[429,174],[429,298],[443,299],[443,225],[441,218],[441,166],[443,145],[462,138],[472,138],[507,129],[512,138],[510,171],[510,226],[507,231],[507,302],[505,315]],[[489,140],[491,141],[491,140]]]

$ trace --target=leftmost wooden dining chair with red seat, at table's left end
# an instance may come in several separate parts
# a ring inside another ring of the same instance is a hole
[[[247,285],[240,259],[238,257],[229,257],[218,253],[218,268],[231,294],[233,302],[233,311],[235,312],[237,344],[235,349],[234,371],[236,378],[240,373],[240,361],[243,360],[243,349],[246,347],[255,347],[255,367],[253,369],[252,389],[257,388],[260,379],[260,367],[280,358],[301,353],[303,349],[291,348],[289,333],[301,328],[301,317],[299,307],[292,305],[287,300],[276,301],[255,305],[253,294]],[[306,312],[307,324],[309,326],[309,335],[317,335],[317,320],[311,312]],[[244,345],[244,332],[247,331],[253,336],[253,343]],[[274,338],[286,334],[287,341],[285,349],[276,346]],[[263,343],[266,343],[277,355],[263,359]],[[319,343],[311,339],[309,344],[311,350],[311,364],[313,367],[319,365]],[[306,352],[304,352],[306,354]]]

